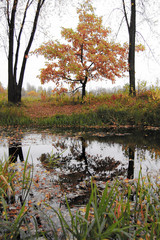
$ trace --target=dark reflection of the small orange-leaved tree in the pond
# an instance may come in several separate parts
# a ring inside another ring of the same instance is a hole
[[[116,176],[124,176],[127,169],[121,167],[120,161],[116,161],[109,156],[101,157],[98,155],[89,155],[86,152],[87,141],[84,137],[79,138],[78,143],[72,141],[70,153],[61,157],[57,164],[53,164],[53,169],[60,169],[58,183],[61,185],[61,190],[64,192],[74,193],[74,197],[68,199],[70,203],[74,204],[80,200],[82,203],[87,201],[87,196],[90,194],[90,179],[93,177],[97,183],[113,180]],[[62,149],[64,149],[64,142],[62,142]],[[60,147],[60,142],[56,144]],[[48,170],[52,168],[51,159],[47,163],[49,154],[42,154],[39,160],[42,165]],[[53,160],[54,162],[54,160]]]

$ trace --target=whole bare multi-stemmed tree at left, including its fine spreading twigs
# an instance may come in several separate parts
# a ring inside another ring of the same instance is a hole
[[[5,48],[8,58],[8,101],[12,103],[21,101],[28,54],[37,32],[38,22],[40,19],[44,20],[41,15],[42,9],[46,6],[45,15],[48,16],[53,15],[53,10],[57,7],[63,8],[67,5],[67,0],[0,0],[0,47]],[[46,29],[47,22],[43,21],[43,24],[44,22]],[[42,24],[40,27],[42,31]]]

